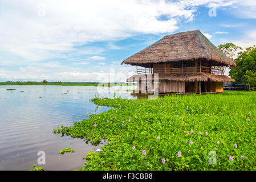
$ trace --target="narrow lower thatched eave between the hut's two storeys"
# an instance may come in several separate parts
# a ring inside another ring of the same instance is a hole
[[[139,81],[140,80],[155,80],[154,75],[133,75],[127,79],[127,82]],[[229,82],[235,81],[233,78],[229,78],[225,75],[213,75],[210,73],[196,73],[193,75],[165,75],[159,74],[159,80],[169,81],[216,81],[216,82]]]

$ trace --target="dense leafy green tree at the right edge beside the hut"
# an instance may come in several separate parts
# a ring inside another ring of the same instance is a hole
[[[236,80],[235,83],[248,83],[250,80],[253,85],[251,79],[256,73],[256,47],[248,47],[245,51],[238,52],[238,57],[234,61],[237,67],[230,67],[231,78]]]

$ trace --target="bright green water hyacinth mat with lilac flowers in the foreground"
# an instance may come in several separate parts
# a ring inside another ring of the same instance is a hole
[[[108,140],[80,170],[256,169],[256,92],[91,101],[114,109],[53,131]]]

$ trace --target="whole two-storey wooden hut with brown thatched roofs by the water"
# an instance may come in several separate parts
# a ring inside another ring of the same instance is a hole
[[[218,93],[224,82],[235,81],[224,76],[235,62],[200,30],[164,36],[121,64],[136,65],[137,75],[127,81],[137,81],[139,92],[147,92],[154,83],[160,93]]]

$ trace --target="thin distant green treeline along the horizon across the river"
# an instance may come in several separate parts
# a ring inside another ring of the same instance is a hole
[[[66,86],[125,86],[125,85],[132,85],[125,82],[36,82],[36,81],[6,81],[0,82],[0,85],[66,85]]]

